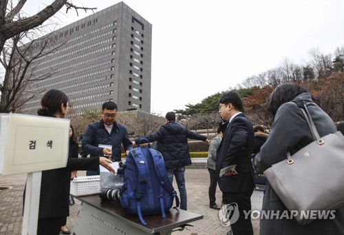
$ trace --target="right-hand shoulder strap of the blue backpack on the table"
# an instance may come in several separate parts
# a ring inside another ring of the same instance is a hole
[[[154,161],[155,166],[155,172],[158,175],[159,181],[160,181],[160,205],[161,205],[161,212],[162,212],[162,218],[166,218],[165,210],[164,210],[164,201],[162,200],[162,187],[165,188],[169,194],[173,196],[173,199],[175,198],[175,207],[179,207],[179,198],[177,196],[177,192],[175,192],[171,182],[169,181],[169,178],[166,175],[166,168],[164,159],[162,158],[162,154],[156,150],[152,150],[149,148],[149,152],[151,152],[151,156]],[[172,201],[173,203],[173,201]]]

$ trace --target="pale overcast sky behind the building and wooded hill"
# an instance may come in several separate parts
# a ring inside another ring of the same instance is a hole
[[[28,0],[32,14],[52,0]],[[344,46],[343,0],[127,0],[153,25],[151,112],[165,114],[233,88],[248,76],[304,64],[311,48],[324,54]],[[118,1],[73,0],[103,10]],[[61,27],[91,11],[65,8]]]

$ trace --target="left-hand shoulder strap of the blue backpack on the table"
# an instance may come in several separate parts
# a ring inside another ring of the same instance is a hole
[[[136,163],[136,166],[138,167],[138,188],[136,189],[136,205],[138,207],[138,217],[140,218],[140,221],[143,225],[147,225],[147,223],[142,218],[141,213],[141,205],[140,205],[140,198],[142,194],[144,193],[144,190],[146,189],[147,185],[147,178],[149,174],[148,165],[146,163],[146,159],[144,159],[144,156],[142,154],[142,150],[140,147],[136,147],[132,150],[130,150],[131,155],[133,156],[133,160]]]

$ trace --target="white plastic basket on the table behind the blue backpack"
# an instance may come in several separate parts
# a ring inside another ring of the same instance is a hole
[[[100,192],[100,176],[78,176],[70,182],[70,194],[85,196]]]

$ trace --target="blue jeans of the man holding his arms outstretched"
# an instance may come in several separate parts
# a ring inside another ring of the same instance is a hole
[[[187,210],[187,196],[184,176],[185,167],[166,168],[166,172],[171,183],[173,183],[173,175],[175,176],[175,181],[177,182],[180,195],[180,209]]]

